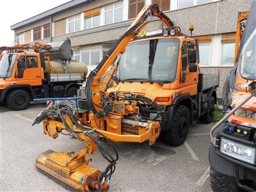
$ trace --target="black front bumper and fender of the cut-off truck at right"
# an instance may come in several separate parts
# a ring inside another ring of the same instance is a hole
[[[215,129],[213,135],[223,136],[224,124],[221,124],[217,129]],[[234,136],[227,135],[228,140],[233,140],[238,143],[245,144],[242,139],[236,138]],[[246,141],[248,143],[248,141]],[[253,147],[256,148],[256,143],[251,143]],[[209,163],[211,164],[212,168],[223,175],[229,175],[231,177],[235,177],[237,180],[237,184],[241,187],[246,189],[247,191],[253,191],[252,188],[248,188],[248,186],[242,184],[243,180],[251,180],[256,182],[256,166],[253,164],[244,163],[243,161],[239,161],[232,157],[226,156],[225,154],[220,153],[220,147],[214,147],[211,144],[209,150]],[[253,192],[256,192],[254,189]]]

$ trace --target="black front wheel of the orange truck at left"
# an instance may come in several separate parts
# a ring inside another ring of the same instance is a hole
[[[27,109],[31,102],[31,97],[25,90],[14,90],[7,95],[6,104],[8,108],[19,111]]]

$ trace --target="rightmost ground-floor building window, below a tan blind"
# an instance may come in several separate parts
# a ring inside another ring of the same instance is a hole
[[[235,42],[222,43],[221,64],[234,63],[235,47]]]

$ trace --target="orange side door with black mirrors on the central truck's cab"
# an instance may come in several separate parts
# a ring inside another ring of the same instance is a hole
[[[190,93],[195,95],[197,93],[197,84],[198,84],[198,62],[195,59],[194,61],[191,58],[191,54],[196,54],[196,46],[194,42],[189,42],[184,40],[182,43],[182,74],[180,83],[184,87],[185,93]],[[196,55],[195,55],[196,56]],[[198,56],[196,56],[198,58]],[[196,65],[194,70],[192,70],[192,65]]]

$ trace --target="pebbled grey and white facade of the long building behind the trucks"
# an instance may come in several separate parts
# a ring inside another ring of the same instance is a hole
[[[133,19],[128,19],[129,0],[124,0],[123,4],[123,18],[122,22],[113,24],[104,24],[104,6],[111,3],[116,3],[116,0],[92,1],[84,3],[75,8],[70,8],[62,13],[52,16],[52,41],[64,40],[70,38],[72,47],[76,50],[76,56],[79,61],[82,60],[82,47],[89,45],[100,45],[100,59],[103,56],[103,44],[113,44],[115,40],[129,28]],[[197,0],[194,0],[196,5]],[[218,98],[221,98],[221,91],[225,78],[232,68],[232,61],[229,63],[222,63],[221,58],[223,54],[223,46],[227,42],[223,42],[223,36],[226,33],[235,33],[237,26],[238,12],[250,10],[252,0],[233,1],[233,0],[212,0],[211,3],[200,4],[188,8],[180,8],[180,0],[170,1],[170,10],[165,12],[168,17],[181,28],[182,33],[189,35],[188,26],[193,24],[195,30],[193,36],[208,35],[210,40],[201,41],[200,45],[209,45],[209,62],[200,63],[200,68],[203,73],[217,74],[220,72],[220,88],[218,89]],[[145,4],[150,4],[150,0],[145,0]],[[100,7],[100,26],[91,29],[84,29],[84,12]],[[81,30],[68,33],[68,17],[78,15],[81,18]],[[80,16],[79,16],[80,15]],[[43,26],[49,23],[48,19],[38,20],[33,24],[23,26],[15,29],[15,34],[20,35],[24,31],[24,41],[32,41],[33,28]],[[145,28],[146,31],[156,31],[164,27],[163,22],[159,19],[152,20]],[[231,34],[232,35],[232,34]],[[49,38],[39,40],[39,42],[47,43]],[[230,45],[234,45],[234,40],[229,40]],[[203,46],[202,46],[203,47]],[[203,49],[203,48],[200,49]],[[205,55],[204,55],[205,56]]]

